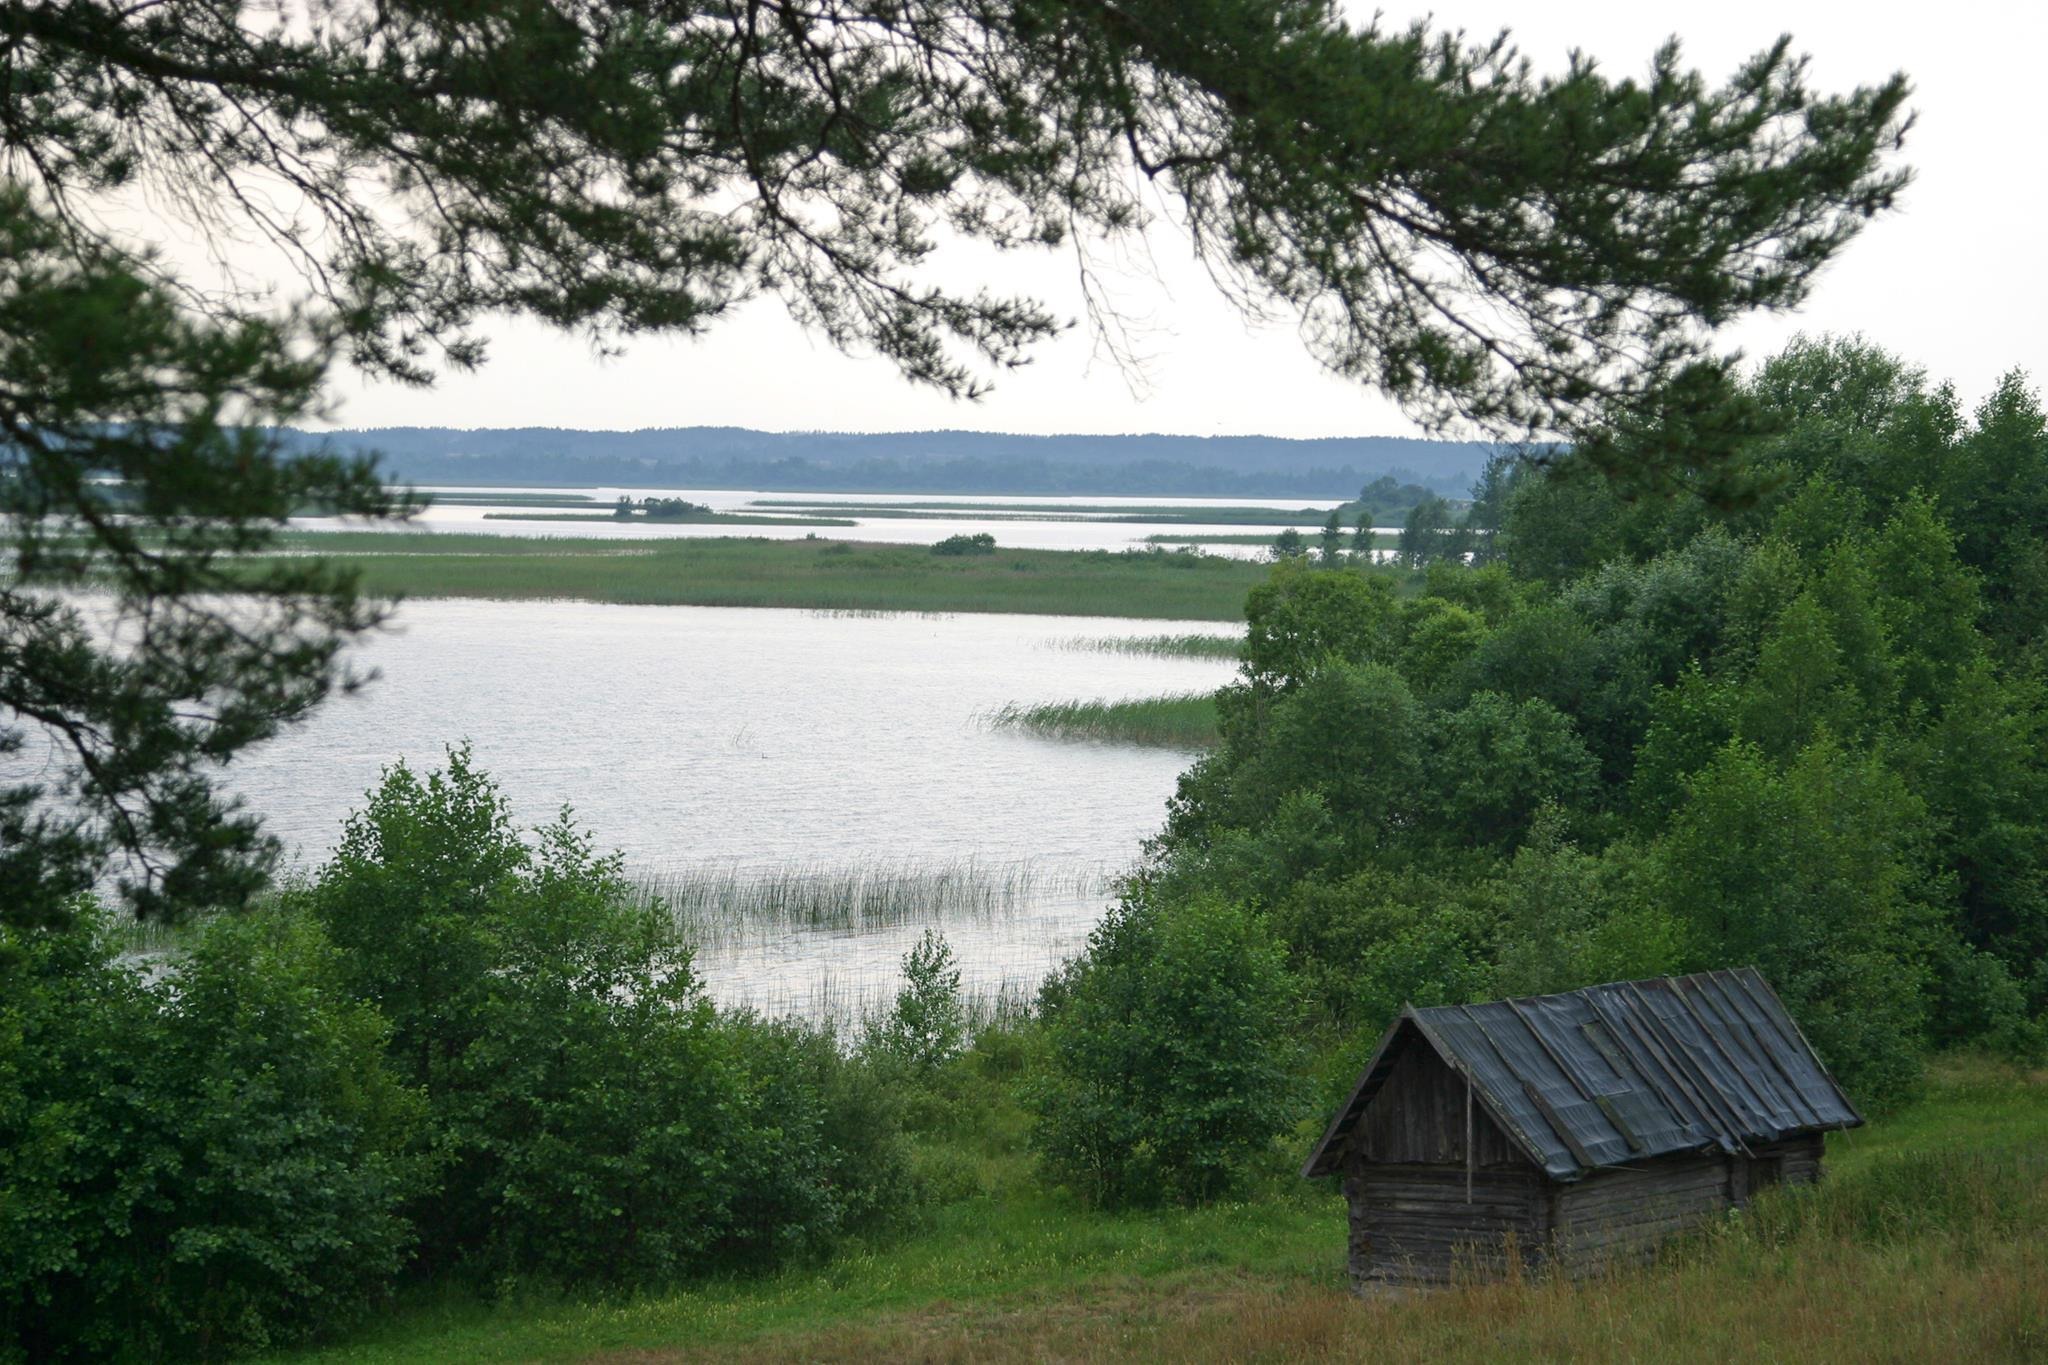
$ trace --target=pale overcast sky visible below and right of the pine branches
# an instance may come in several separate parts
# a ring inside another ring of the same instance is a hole
[[[1352,6],[1354,12],[1370,12]],[[1419,8],[1391,0],[1386,23]],[[1903,207],[1872,223],[1827,270],[1806,307],[1733,334],[1749,356],[1796,332],[1862,332],[1954,379],[1974,403],[2005,370],[2048,379],[2042,307],[2048,305],[2048,178],[2042,145],[2042,61],[2048,6],[1960,0],[1925,4],[1849,0],[1720,0],[1663,6],[1642,0],[1446,0],[1440,27],[1473,37],[1503,27],[1538,68],[1573,47],[1610,74],[1638,74],[1669,35],[1692,65],[1722,78],[1747,55],[1792,33],[1812,55],[1821,90],[1913,78],[1919,123],[1905,160],[1917,170]],[[481,372],[432,391],[344,379],[342,426],[756,426],[768,430],[1184,432],[1274,436],[1413,434],[1368,389],[1325,375],[1288,323],[1247,327],[1190,266],[1165,225],[1153,233],[1157,278],[1133,272],[1118,293],[1143,323],[1143,389],[1100,358],[1085,325],[1006,375],[979,403],[954,403],[897,379],[872,358],[848,358],[758,301],[694,342],[635,342],[598,360],[580,340],[532,323],[492,327]],[[1001,289],[1028,289],[1065,315],[1079,313],[1071,258],[1004,258]]]

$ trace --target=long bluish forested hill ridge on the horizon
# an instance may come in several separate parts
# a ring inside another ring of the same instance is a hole
[[[1481,442],[1405,436],[1008,436],[999,432],[756,432],[733,426],[371,428],[291,432],[379,450],[410,483],[633,485],[872,493],[1180,493],[1350,497],[1380,475],[1462,497]]]

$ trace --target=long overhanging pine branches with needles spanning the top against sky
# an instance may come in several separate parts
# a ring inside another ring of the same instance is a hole
[[[1712,327],[1798,303],[1905,182],[1905,80],[1827,96],[1786,41],[1724,84],[1675,43],[1538,76],[1323,0],[80,2],[0,43],[14,172],[72,233],[125,184],[260,233],[406,379],[473,364],[489,313],[614,340],[772,295],[969,395],[1061,323],[948,284],[940,233],[1085,246],[1157,194],[1231,299],[1427,420],[1620,415],[1683,438],[1638,467],[1712,463],[1741,428]]]

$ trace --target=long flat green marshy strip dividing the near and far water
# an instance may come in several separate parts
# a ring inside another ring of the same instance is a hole
[[[1266,565],[1210,555],[932,555],[926,546],[711,536],[291,532],[285,546],[360,565],[375,593],[651,606],[1243,620],[1245,593],[1266,575]]]

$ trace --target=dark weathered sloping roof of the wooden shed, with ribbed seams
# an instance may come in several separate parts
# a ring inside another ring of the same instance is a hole
[[[1407,1031],[1550,1179],[1669,1152],[1747,1152],[1864,1117],[1755,968],[1401,1011],[1303,1175],[1337,1169]]]

